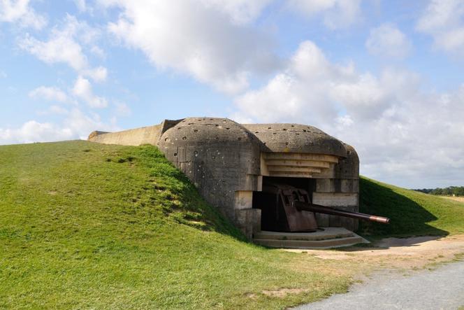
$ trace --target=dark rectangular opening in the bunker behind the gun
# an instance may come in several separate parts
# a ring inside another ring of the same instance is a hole
[[[253,208],[261,209],[261,230],[272,232],[314,231],[314,215],[297,211],[292,200],[312,201],[314,178],[263,176],[263,190],[253,192]]]

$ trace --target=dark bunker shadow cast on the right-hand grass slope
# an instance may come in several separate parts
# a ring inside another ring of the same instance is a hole
[[[427,223],[437,220],[432,213],[414,200],[394,192],[382,184],[365,178],[360,180],[360,212],[391,219],[389,225],[359,222],[358,234],[376,240],[386,237],[439,236],[449,234]],[[439,238],[437,237],[437,238]]]

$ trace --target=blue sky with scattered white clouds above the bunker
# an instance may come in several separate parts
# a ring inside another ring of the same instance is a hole
[[[366,176],[464,185],[463,1],[0,0],[0,42],[0,144],[298,122]]]

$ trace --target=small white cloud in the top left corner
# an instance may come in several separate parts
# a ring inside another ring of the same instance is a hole
[[[0,22],[19,22],[22,27],[41,29],[47,20],[29,6],[29,0],[0,0]]]

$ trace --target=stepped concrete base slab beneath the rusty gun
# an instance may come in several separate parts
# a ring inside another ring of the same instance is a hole
[[[340,248],[369,243],[342,227],[324,227],[317,232],[256,232],[255,244],[272,248]]]

